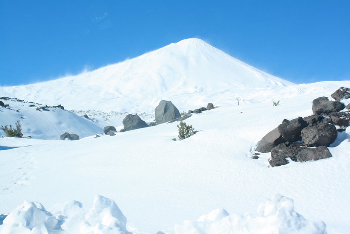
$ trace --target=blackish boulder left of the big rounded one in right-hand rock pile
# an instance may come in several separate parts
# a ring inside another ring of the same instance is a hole
[[[283,120],[282,124],[278,126],[278,130],[282,137],[288,142],[296,142],[301,140],[301,129],[307,126],[307,123],[301,117],[297,119]]]

